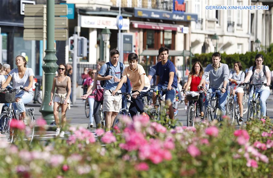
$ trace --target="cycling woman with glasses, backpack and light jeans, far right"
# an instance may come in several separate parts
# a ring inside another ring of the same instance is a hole
[[[253,84],[259,84],[259,83],[265,83],[266,86],[264,85],[258,85],[256,86],[256,93],[255,97],[260,94],[260,105],[261,105],[261,116],[263,118],[266,117],[266,100],[268,99],[268,96],[270,95],[270,70],[268,66],[262,65],[264,61],[264,56],[261,54],[257,54],[255,56],[255,62],[253,66],[251,66],[248,70],[247,76],[244,79],[245,83],[248,82],[248,80],[252,76],[252,83]],[[264,71],[265,70],[265,71]],[[251,91],[249,92],[249,99],[248,99],[248,107],[250,105],[250,100],[253,99],[253,92],[254,92],[254,87],[252,87]],[[255,98],[256,99],[256,98]]]

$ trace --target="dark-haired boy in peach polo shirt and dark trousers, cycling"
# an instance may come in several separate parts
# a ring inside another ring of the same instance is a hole
[[[119,84],[117,85],[115,91],[112,92],[114,96],[115,93],[122,87],[122,84],[126,81],[128,77],[132,83],[132,93],[131,97],[132,103],[129,107],[129,112],[133,118],[136,115],[137,111],[140,114],[147,116],[144,112],[144,105],[141,101],[141,98],[144,97],[150,90],[150,80],[146,76],[146,72],[143,69],[142,65],[138,64],[138,56],[136,53],[130,53],[128,55],[129,66],[123,70],[122,77]]]

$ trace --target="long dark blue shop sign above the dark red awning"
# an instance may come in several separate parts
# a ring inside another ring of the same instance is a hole
[[[197,14],[181,13],[180,12],[166,12],[158,10],[150,10],[143,8],[135,8],[135,17],[140,18],[155,18],[155,19],[165,19],[165,20],[176,20],[176,21],[197,21]]]

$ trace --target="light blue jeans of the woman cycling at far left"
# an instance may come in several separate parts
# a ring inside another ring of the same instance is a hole
[[[19,102],[13,103],[13,108],[15,110],[15,113],[17,110],[19,113],[25,112],[25,104],[28,104],[29,102],[32,101],[33,99],[33,93],[32,92],[25,92],[25,91],[20,91],[15,95],[15,98],[20,97],[21,100]]]

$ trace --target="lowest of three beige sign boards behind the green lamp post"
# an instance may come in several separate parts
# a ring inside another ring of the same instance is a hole
[[[66,41],[67,29],[55,29],[55,40]],[[24,29],[24,40],[42,40],[43,29]]]

